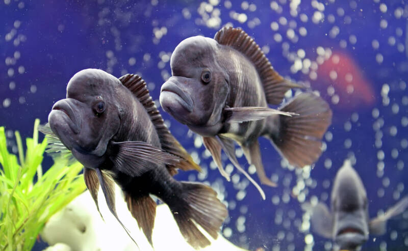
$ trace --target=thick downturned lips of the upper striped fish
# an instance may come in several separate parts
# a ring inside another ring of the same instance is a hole
[[[160,91],[160,104],[166,111],[176,111],[174,101],[177,101],[189,113],[193,111],[193,100],[186,95],[174,82],[167,81],[163,84]],[[177,111],[176,111],[177,112]]]

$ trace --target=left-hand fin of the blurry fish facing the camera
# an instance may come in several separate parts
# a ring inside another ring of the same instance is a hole
[[[310,203],[303,203],[302,209],[311,213],[310,221],[314,232],[328,239],[332,237],[333,216],[325,204],[312,206]]]

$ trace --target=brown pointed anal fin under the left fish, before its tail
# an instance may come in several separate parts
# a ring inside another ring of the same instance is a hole
[[[144,235],[152,245],[151,235],[155,225],[156,202],[149,194],[139,194],[137,197],[132,197],[129,193],[125,193],[125,201],[132,216],[137,220],[139,228],[143,230]]]

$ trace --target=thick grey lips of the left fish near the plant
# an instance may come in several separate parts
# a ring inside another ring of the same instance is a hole
[[[65,122],[74,134],[78,134],[81,128],[81,117],[78,113],[74,113],[72,104],[67,99],[62,99],[54,104],[53,110],[49,113],[48,122],[53,130],[64,127]]]

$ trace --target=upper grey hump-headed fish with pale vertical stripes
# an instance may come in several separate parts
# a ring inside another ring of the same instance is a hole
[[[163,84],[160,103],[176,120],[202,136],[221,174],[221,149],[260,190],[239,165],[234,141],[263,184],[276,186],[265,174],[258,138],[269,138],[289,163],[302,167],[321,154],[321,138],[331,123],[331,110],[322,98],[302,93],[279,109],[291,88],[272,68],[259,46],[239,28],[223,27],[214,39],[190,37],[174,49],[172,76]]]

